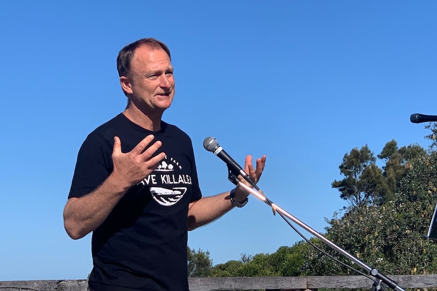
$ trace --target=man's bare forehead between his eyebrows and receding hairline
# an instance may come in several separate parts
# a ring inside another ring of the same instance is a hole
[[[153,71],[171,67],[170,57],[163,49],[141,46],[133,54],[131,69],[133,71]]]

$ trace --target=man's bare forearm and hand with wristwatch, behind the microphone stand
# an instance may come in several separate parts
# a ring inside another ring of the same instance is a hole
[[[266,156],[257,159],[257,168],[253,168],[252,157],[246,156],[244,161],[244,172],[246,172],[253,182],[260,180],[261,174],[266,163]],[[245,182],[244,179],[241,179]],[[247,184],[247,182],[246,182]],[[240,187],[235,188],[235,199],[242,203],[249,195]],[[217,194],[214,196],[202,197],[197,201],[191,202],[188,209],[188,230],[193,230],[199,226],[208,224],[230,211],[234,207],[230,199],[230,192]]]

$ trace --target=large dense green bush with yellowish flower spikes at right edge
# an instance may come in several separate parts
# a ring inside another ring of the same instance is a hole
[[[437,152],[419,156],[398,182],[394,198],[383,205],[361,204],[328,220],[325,236],[369,266],[386,274],[437,272],[437,245],[426,239],[437,199]],[[344,263],[330,247],[318,245]],[[350,274],[346,267],[312,250],[306,275]],[[356,265],[355,265],[356,266]],[[361,270],[362,271],[362,270]]]

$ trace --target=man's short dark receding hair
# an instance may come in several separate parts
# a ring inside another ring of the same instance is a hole
[[[135,53],[135,50],[139,48],[140,46],[148,46],[151,49],[163,49],[171,61],[171,55],[170,50],[168,49],[167,45],[164,44],[162,41],[153,38],[153,37],[146,37],[141,38],[133,43],[125,46],[121,51],[118,53],[117,56],[117,70],[119,76],[129,76],[130,71],[130,62],[132,61],[133,54]]]

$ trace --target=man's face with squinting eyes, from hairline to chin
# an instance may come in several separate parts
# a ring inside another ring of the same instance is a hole
[[[121,81],[123,83],[122,78]],[[138,109],[149,113],[164,112],[170,107],[175,92],[173,67],[167,53],[147,46],[137,48],[126,84],[123,88]]]

